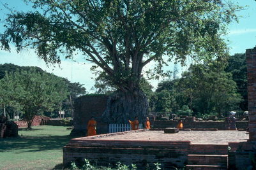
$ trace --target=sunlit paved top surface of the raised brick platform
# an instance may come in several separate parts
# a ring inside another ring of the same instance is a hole
[[[191,143],[228,144],[249,139],[245,131],[179,131],[176,134],[165,134],[163,131],[146,131],[127,133],[116,136],[105,136],[100,140],[152,140],[152,141],[191,141]],[[97,139],[95,139],[97,140]]]

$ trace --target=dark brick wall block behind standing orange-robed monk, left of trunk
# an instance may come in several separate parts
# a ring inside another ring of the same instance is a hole
[[[81,96],[75,100],[75,112],[71,134],[86,135],[87,122],[93,116],[97,122],[97,133],[107,133],[108,126],[101,119],[107,105],[106,95]]]

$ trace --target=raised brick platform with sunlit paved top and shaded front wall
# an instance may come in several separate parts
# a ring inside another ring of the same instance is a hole
[[[117,132],[72,139],[64,146],[63,164],[66,166],[73,160],[80,162],[86,158],[102,166],[122,162],[137,164],[142,168],[146,164],[154,167],[153,164],[158,162],[163,168],[171,169],[186,166],[188,155],[191,154],[199,154],[197,159],[200,161],[202,155],[206,154],[210,154],[209,159],[214,157],[216,161],[216,156],[211,155],[225,155],[224,163],[227,163],[228,143],[247,139],[248,134],[244,131],[179,131],[164,134],[163,131],[140,129]]]

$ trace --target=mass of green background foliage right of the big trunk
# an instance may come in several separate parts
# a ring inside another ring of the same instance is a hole
[[[225,72],[225,67],[225,60],[193,64],[181,78],[159,83],[156,101],[151,103],[156,111],[199,117],[239,110],[242,99],[232,73]]]

